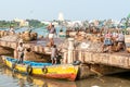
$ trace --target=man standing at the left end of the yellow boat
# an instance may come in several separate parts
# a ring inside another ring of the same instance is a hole
[[[24,46],[23,46],[23,42],[20,42],[18,44],[18,47],[17,47],[17,51],[18,51],[18,63],[23,63],[24,61]]]

